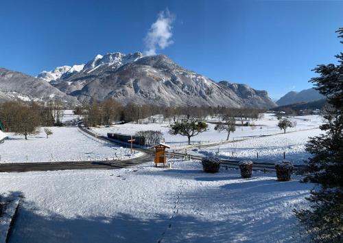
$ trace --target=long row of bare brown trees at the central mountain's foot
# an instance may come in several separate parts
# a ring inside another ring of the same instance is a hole
[[[242,124],[248,119],[259,119],[262,110],[252,108],[227,108],[222,106],[182,106],[165,107],[150,104],[127,104],[121,105],[119,102],[108,99],[104,102],[93,102],[92,104],[75,108],[74,113],[84,116],[86,126],[110,125],[113,122],[135,122],[139,124],[150,118],[149,122],[156,122],[154,115],[162,115],[163,122],[182,122],[182,120],[202,120],[206,117],[218,117],[219,120],[226,117],[236,117]],[[158,121],[162,122],[162,121]]]

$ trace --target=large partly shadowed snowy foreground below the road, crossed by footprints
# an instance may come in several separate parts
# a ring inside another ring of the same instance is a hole
[[[25,196],[11,242],[301,242],[292,209],[313,187],[205,174],[198,161],[2,173],[0,185]]]

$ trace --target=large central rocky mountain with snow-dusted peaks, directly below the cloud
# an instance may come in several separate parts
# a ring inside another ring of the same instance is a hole
[[[217,83],[180,67],[167,56],[143,56],[140,52],[97,55],[82,70],[62,73],[51,84],[80,102],[112,97],[123,104],[276,106],[266,91],[245,84]]]

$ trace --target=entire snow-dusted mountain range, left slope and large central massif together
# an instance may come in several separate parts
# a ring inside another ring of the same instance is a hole
[[[5,80],[11,85],[4,88]],[[32,89],[34,85],[45,89]],[[97,55],[85,65],[57,67],[39,73],[36,78],[0,69],[0,100],[14,97],[62,100],[73,105],[114,98],[122,104],[276,106],[267,91],[225,80],[215,82],[181,67],[167,56],[143,56],[140,52]]]

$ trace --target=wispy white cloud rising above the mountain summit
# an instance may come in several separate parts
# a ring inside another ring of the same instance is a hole
[[[169,10],[162,11],[158,14],[157,20],[152,23],[149,32],[145,36],[145,55],[155,55],[156,49],[165,49],[173,43],[171,37],[172,23],[175,16]]]

